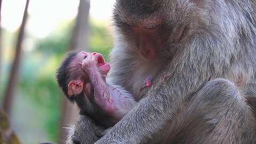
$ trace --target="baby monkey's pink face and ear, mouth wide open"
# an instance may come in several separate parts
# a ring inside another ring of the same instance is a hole
[[[79,52],[69,64],[69,73],[74,79],[68,84],[68,94],[74,95],[81,92],[90,93],[91,82],[89,81],[95,71],[105,78],[110,70],[100,53]],[[95,78],[100,78],[100,76]],[[89,95],[89,94],[87,94]]]

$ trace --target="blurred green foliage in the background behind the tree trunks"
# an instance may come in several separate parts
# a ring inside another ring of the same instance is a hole
[[[73,26],[73,21],[63,21],[43,39],[29,36],[35,42],[35,46],[33,50],[23,52],[17,98],[14,101],[12,115],[12,126],[25,143],[58,140],[61,104],[64,97],[57,85],[55,73],[65,53],[70,49]],[[108,28],[104,25],[95,25],[92,20],[90,26],[89,48],[107,59],[113,46]],[[10,41],[11,44],[15,44],[13,39]],[[14,46],[10,46],[9,43],[5,47],[10,49],[5,52],[13,55]],[[10,65],[11,61],[6,60],[2,71],[9,71]],[[0,80],[1,83],[6,83],[7,78]],[[2,84],[0,88],[3,90],[3,87]]]

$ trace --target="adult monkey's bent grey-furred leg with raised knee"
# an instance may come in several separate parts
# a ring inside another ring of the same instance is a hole
[[[184,104],[171,127],[166,126],[166,130],[159,133],[161,143],[256,141],[252,108],[230,81],[213,79]]]

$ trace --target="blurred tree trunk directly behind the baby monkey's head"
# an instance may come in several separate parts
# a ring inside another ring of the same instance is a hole
[[[78,14],[76,19],[76,25],[73,31],[73,38],[71,40],[70,50],[79,49],[83,51],[89,51],[88,48],[88,33],[89,33],[89,10],[90,0],[80,0],[78,7]],[[65,98],[64,96],[62,98]],[[66,129],[67,124],[74,123],[74,117],[77,116],[77,106],[71,103],[67,98],[63,99],[62,115],[61,115],[61,129],[59,143],[65,143],[66,141]],[[64,141],[63,141],[64,140]]]

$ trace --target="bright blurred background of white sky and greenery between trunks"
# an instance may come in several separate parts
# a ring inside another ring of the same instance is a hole
[[[107,59],[113,47],[114,0],[91,0],[89,49]],[[0,100],[9,81],[25,0],[3,0],[1,10]],[[55,72],[70,50],[78,0],[30,0],[22,43],[11,127],[23,143],[58,142],[62,100]],[[1,103],[3,105],[3,103]]]

